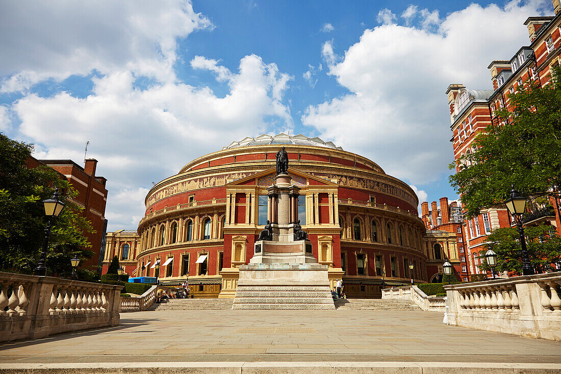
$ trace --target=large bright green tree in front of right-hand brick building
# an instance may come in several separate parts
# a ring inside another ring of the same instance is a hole
[[[502,204],[511,185],[522,196],[561,197],[560,77],[557,67],[550,84],[527,82],[509,94],[512,111],[496,111],[498,120],[474,140],[477,150],[450,164],[468,217]]]

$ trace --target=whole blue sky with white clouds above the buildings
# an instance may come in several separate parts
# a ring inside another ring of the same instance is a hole
[[[109,231],[136,229],[153,182],[263,133],[455,199],[446,89],[491,89],[538,15],[550,0],[1,1],[0,132],[79,165],[89,142]]]

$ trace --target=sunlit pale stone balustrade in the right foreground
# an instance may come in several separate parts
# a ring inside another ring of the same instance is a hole
[[[561,272],[444,286],[448,325],[561,341]]]

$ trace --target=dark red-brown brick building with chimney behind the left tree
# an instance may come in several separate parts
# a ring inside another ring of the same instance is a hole
[[[82,266],[98,266],[99,254],[102,248],[104,235],[105,204],[107,204],[107,179],[95,175],[98,161],[93,158],[85,160],[85,166],[81,167],[70,159],[27,159],[28,167],[46,165],[66,178],[72,187],[78,192],[76,198],[70,199],[72,203],[84,208],[81,215],[86,218],[94,229],[94,232],[85,232],[91,244],[94,256],[82,263]]]

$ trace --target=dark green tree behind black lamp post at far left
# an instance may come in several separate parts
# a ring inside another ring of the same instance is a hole
[[[44,245],[47,218],[42,200],[61,191],[66,206],[52,218],[47,252],[47,275],[70,276],[70,259],[93,256],[84,232],[91,225],[80,215],[82,208],[69,198],[77,195],[66,179],[47,166],[26,167],[32,144],[0,133],[0,271],[33,273]]]

